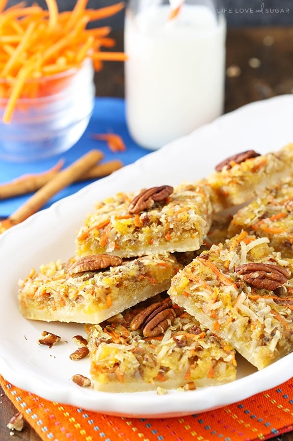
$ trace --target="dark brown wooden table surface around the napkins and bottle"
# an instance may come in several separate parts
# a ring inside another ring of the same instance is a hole
[[[115,50],[122,50],[122,33],[114,37],[117,37]],[[253,101],[293,93],[293,28],[229,29],[226,66],[225,113]],[[105,63],[95,80],[97,95],[124,96],[122,63]],[[261,130],[265,130],[265,121]],[[7,424],[15,413],[16,409],[0,388],[0,441],[11,441]],[[15,433],[15,439],[41,440],[28,423]],[[293,432],[272,439],[293,441]]]

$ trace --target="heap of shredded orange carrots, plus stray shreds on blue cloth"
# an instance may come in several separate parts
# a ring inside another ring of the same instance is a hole
[[[101,52],[102,46],[112,48],[116,43],[108,37],[109,26],[87,27],[117,14],[124,8],[123,2],[95,10],[87,9],[88,0],[76,0],[72,11],[59,12],[57,0],[45,1],[47,8],[42,9],[25,2],[7,8],[7,0],[0,0],[0,77],[5,80],[0,97],[7,100],[5,123],[11,121],[18,99],[50,95],[49,76],[77,70],[85,59],[92,59],[97,69],[103,61],[126,60],[120,52]],[[38,79],[42,81],[35,81]],[[62,90],[66,81],[56,80],[54,91]],[[121,140],[110,138],[109,144],[114,151],[125,150]]]

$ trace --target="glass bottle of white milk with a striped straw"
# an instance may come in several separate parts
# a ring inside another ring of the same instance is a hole
[[[216,0],[129,0],[126,121],[150,150],[223,112],[226,23]]]

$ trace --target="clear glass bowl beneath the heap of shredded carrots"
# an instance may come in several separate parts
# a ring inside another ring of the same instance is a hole
[[[0,79],[1,159],[47,158],[67,151],[83,135],[95,98],[91,60],[79,69],[26,81],[11,120],[5,123],[2,118],[9,87],[7,80]]]

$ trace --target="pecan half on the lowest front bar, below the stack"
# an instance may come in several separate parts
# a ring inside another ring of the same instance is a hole
[[[141,329],[145,337],[156,337],[172,325],[176,312],[171,301],[153,303],[139,312],[130,322],[130,329]]]

